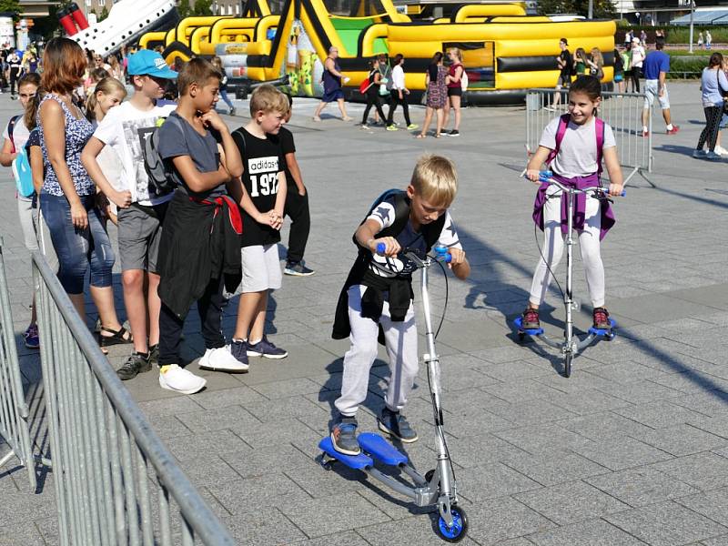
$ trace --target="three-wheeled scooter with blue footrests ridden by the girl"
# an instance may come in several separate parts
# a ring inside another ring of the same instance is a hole
[[[525,172],[526,171],[523,171],[523,173]],[[564,320],[563,341],[555,341],[553,339],[549,339],[542,328],[524,329],[522,317],[518,317],[513,322],[518,328],[518,339],[520,341],[522,341],[526,336],[531,336],[532,338],[541,339],[544,343],[546,343],[546,345],[554,349],[560,350],[564,362],[564,376],[569,378],[571,377],[571,363],[574,357],[581,352],[581,349],[585,349],[587,346],[591,345],[591,342],[593,342],[595,339],[602,338],[606,339],[607,341],[611,341],[616,336],[614,329],[616,328],[617,323],[613,319],[609,319],[610,325],[612,327],[611,329],[596,329],[591,327],[589,329],[587,337],[580,340],[573,333],[574,325],[573,318],[571,317],[572,310],[578,308],[578,304],[574,301],[573,293],[571,291],[571,275],[573,268],[572,248],[575,244],[575,240],[573,237],[574,201],[576,200],[576,195],[580,193],[596,197],[597,199],[606,199],[608,197],[602,187],[584,187],[582,189],[578,189],[572,186],[565,186],[561,184],[561,182],[559,182],[558,180],[553,179],[553,174],[551,173],[551,171],[541,171],[541,173],[539,174],[539,180],[541,182],[545,182],[547,184],[559,187],[561,191],[566,193],[567,195],[568,216],[566,220],[567,230],[565,241],[566,291],[563,293],[563,305],[564,308],[566,308],[566,319]],[[622,197],[624,195],[626,194],[624,191],[622,191]],[[561,195],[557,195],[557,197],[561,198]]]

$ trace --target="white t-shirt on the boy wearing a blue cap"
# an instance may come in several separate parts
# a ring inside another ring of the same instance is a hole
[[[157,127],[157,120],[169,116],[176,107],[155,106],[145,112],[125,102],[111,108],[96,127],[94,136],[111,147],[121,162],[118,185],[115,187],[119,191],[129,190],[133,203],[148,207],[172,198],[171,193],[157,196],[149,187],[149,177],[144,168],[144,142]]]

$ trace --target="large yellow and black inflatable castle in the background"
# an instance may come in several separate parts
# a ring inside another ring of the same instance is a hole
[[[379,53],[405,56],[407,86],[421,92],[435,52],[458,47],[470,103],[514,104],[529,87],[556,85],[561,37],[572,52],[598,47],[605,60],[603,81],[612,81],[613,21],[526,15],[521,2],[460,5],[434,20],[412,20],[390,0],[339,0],[337,13],[324,0],[287,0],[278,15],[265,0],[252,5],[244,17],[188,17],[142,43],[164,40],[170,64],[175,56],[220,56],[228,86],[242,92],[255,82],[288,76],[293,96],[319,96],[321,60],[331,46],[339,48],[339,65],[350,78],[349,98],[361,98],[359,84]]]

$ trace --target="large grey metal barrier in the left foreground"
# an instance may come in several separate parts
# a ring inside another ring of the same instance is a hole
[[[234,544],[39,252],[33,278],[62,546]]]

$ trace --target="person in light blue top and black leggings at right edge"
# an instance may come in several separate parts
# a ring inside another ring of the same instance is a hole
[[[703,89],[703,112],[705,113],[705,127],[698,138],[693,157],[705,157],[716,161],[721,157],[715,153],[715,142],[718,138],[718,128],[723,115],[725,96],[728,95],[728,78],[723,72],[723,56],[713,53],[708,66],[703,68],[701,78]],[[707,143],[707,153],[703,146]]]

